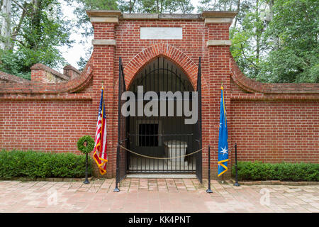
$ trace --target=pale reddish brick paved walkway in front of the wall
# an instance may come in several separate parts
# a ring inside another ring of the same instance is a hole
[[[319,212],[319,186],[234,187],[197,179],[82,182],[0,181],[0,212]],[[269,195],[269,200],[267,200]],[[99,201],[99,202],[96,202]]]

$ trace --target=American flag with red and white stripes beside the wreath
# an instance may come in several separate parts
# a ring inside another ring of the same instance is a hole
[[[108,162],[108,155],[106,154],[106,142],[106,114],[104,106],[104,89],[102,87],[93,155],[93,158],[99,167],[101,175],[104,175],[106,173],[106,162]]]

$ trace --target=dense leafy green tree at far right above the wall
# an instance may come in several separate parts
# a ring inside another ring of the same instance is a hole
[[[268,80],[318,83],[319,1],[277,0],[273,9],[266,33],[273,50],[262,65]]]

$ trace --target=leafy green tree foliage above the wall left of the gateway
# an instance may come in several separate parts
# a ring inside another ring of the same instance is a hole
[[[30,79],[30,67],[36,63],[56,69],[66,65],[58,48],[73,43],[72,23],[62,17],[58,0],[15,1],[11,22],[11,41],[0,51],[0,70]]]

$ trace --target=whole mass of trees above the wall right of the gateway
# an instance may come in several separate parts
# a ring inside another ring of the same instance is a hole
[[[319,82],[319,1],[201,0],[198,9],[238,11],[230,50],[248,77]]]

